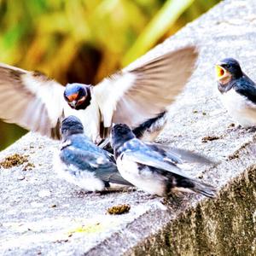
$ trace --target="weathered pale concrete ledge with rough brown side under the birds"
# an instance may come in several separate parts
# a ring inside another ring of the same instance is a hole
[[[192,174],[219,189],[218,198],[185,195],[166,208],[140,191],[83,194],[55,177],[56,143],[28,134],[0,154],[28,154],[31,171],[0,170],[0,252],[3,255],[255,255],[256,136],[229,128],[218,100],[213,64],[226,56],[241,61],[256,80],[256,1],[224,1],[139,61],[188,42],[201,48],[183,96],[170,110],[160,141],[194,149],[220,161]],[[218,139],[202,143],[202,138]],[[23,176],[24,179],[22,179]],[[106,214],[119,203],[120,216]]]

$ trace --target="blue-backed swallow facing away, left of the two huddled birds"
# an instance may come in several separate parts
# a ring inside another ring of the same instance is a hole
[[[62,120],[61,137],[61,151],[55,155],[54,169],[67,182],[93,192],[113,184],[131,185],[120,176],[112,156],[84,135],[84,127],[77,117]]]

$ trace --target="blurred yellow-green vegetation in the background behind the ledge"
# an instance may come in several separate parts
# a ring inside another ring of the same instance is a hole
[[[0,61],[95,84],[219,0],[0,0]],[[26,131],[0,123],[0,150]]]

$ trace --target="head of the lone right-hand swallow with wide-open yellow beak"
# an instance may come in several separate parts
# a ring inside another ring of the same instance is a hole
[[[226,58],[215,65],[216,78],[222,86],[230,84],[232,79],[242,77],[241,67],[233,58]]]

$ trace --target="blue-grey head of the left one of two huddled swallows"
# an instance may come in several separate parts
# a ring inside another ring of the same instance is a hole
[[[73,134],[83,134],[84,126],[79,118],[70,115],[61,122],[61,137],[66,139]]]

